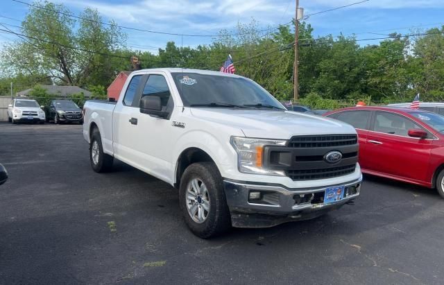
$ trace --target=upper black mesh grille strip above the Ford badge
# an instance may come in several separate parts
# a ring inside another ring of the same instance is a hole
[[[325,148],[357,144],[357,135],[315,135],[292,137],[290,148]]]

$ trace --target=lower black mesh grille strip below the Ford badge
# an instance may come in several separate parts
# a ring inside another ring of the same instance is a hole
[[[315,180],[322,178],[333,178],[354,173],[356,164],[349,164],[339,167],[330,167],[327,169],[299,169],[286,171],[287,176],[294,181]]]

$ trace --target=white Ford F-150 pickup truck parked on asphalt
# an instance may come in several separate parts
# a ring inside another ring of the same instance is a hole
[[[92,169],[119,159],[179,189],[194,234],[306,220],[359,196],[355,128],[287,111],[253,80],[135,71],[116,102],[87,101]]]

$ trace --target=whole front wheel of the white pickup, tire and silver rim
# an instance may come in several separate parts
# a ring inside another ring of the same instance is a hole
[[[180,207],[191,232],[203,239],[231,227],[219,169],[213,162],[198,162],[185,169],[180,180]]]

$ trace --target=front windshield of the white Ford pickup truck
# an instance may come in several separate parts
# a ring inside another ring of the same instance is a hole
[[[271,94],[246,78],[174,72],[180,97],[189,107],[252,107],[286,110]]]

